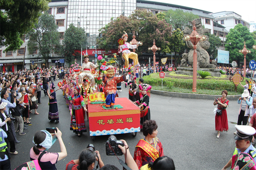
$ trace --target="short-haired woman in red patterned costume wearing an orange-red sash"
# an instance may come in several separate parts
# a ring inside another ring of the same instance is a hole
[[[143,139],[138,142],[133,159],[138,168],[150,162],[154,162],[163,155],[163,147],[157,136],[157,124],[155,120],[146,120],[143,123]]]

